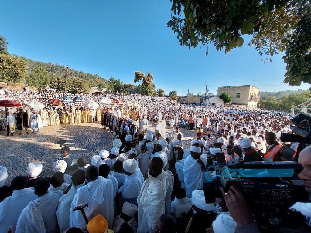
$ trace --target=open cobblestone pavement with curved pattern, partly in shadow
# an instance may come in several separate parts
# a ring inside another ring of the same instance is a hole
[[[151,123],[148,129],[154,130]],[[191,140],[196,134],[196,130],[181,129],[183,133],[184,148],[190,148]],[[166,126],[166,134],[171,132],[170,126]],[[59,126],[47,126],[40,129],[35,135],[32,130],[29,134],[5,137],[5,131],[0,131],[0,165],[7,167],[7,183],[18,175],[25,175],[28,162],[41,162],[43,164],[43,175],[50,175],[52,164],[55,158],[61,154],[60,146],[56,141],[65,139],[71,151],[78,158],[86,157],[91,163],[93,155],[100,150],[112,148],[114,136],[109,131],[103,130],[99,122],[89,122],[82,124],[68,124]]]

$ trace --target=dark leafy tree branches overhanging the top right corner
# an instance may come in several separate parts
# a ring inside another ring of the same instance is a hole
[[[289,85],[311,84],[311,3],[307,0],[171,0],[171,27],[180,45],[213,44],[216,50],[241,47],[252,35],[263,59],[285,52]],[[272,61],[272,60],[270,60]]]

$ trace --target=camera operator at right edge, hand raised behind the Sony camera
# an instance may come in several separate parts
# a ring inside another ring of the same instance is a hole
[[[305,186],[305,190],[310,194],[311,197],[311,146],[303,149],[300,153],[299,164],[302,165],[303,170],[299,172],[298,177],[300,180],[303,180],[303,185]],[[224,193],[223,189],[220,187],[221,192],[223,193],[223,197],[225,199],[225,203],[227,208],[229,209],[230,215],[233,217],[234,221],[237,223],[237,226],[235,227],[235,231],[237,233],[246,233],[246,232],[252,232],[257,233],[260,232],[258,230],[258,227],[256,226],[256,223],[254,222],[250,209],[244,199],[244,196],[241,194],[241,192],[231,186],[228,193]],[[304,221],[303,224],[297,226],[297,218],[287,218],[286,221],[283,221],[284,226],[281,227],[279,232],[310,232],[310,217],[311,217],[311,204],[310,203],[301,203],[304,204],[303,210],[301,212],[304,213],[304,216],[302,216],[301,213],[294,212],[296,215],[299,214],[300,217],[304,217],[304,220],[307,220],[308,222]],[[296,204],[293,206],[295,209]],[[299,207],[301,205],[297,205]],[[295,209],[296,211],[299,211],[299,208]],[[288,210],[288,213],[293,213],[292,210]],[[292,221],[291,221],[292,220]],[[290,229],[287,226],[293,226],[296,225],[297,227],[295,229]],[[295,230],[295,231],[293,231]]]

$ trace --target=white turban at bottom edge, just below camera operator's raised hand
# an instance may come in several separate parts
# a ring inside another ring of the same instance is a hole
[[[234,233],[237,223],[230,215],[221,213],[214,220],[212,226],[215,233]]]

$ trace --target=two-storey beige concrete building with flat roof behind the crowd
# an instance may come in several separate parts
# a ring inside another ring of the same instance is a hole
[[[257,107],[259,88],[252,85],[218,87],[219,96],[227,93],[232,96],[232,106],[254,108]]]

